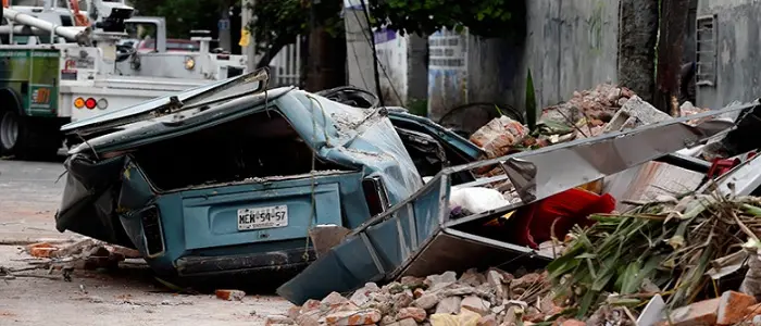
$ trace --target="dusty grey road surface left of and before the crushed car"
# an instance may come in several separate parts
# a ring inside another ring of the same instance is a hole
[[[79,237],[55,230],[63,172],[61,162],[0,160],[0,267],[24,271],[11,278],[0,272],[0,325],[264,325],[267,315],[291,306],[271,294],[242,302],[178,294],[139,262],[117,271],[77,269],[72,281],[60,272],[35,269],[37,260],[23,246],[2,243]]]

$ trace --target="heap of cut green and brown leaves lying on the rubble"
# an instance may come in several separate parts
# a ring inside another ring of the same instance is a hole
[[[547,268],[554,291],[576,303],[578,317],[604,303],[643,308],[656,293],[672,309],[691,303],[715,287],[707,273],[722,277],[718,271],[745,254],[746,240],[758,241],[751,227],[760,204],[759,198],[699,195],[590,216],[597,224],[576,227],[565,253]]]

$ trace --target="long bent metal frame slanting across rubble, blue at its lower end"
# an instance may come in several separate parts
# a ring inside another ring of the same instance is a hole
[[[476,242],[481,246],[498,248],[506,256],[533,255],[548,261],[550,256],[542,255],[531,248],[463,233],[454,227],[499,216],[554,193],[722,136],[734,129],[735,123],[723,120],[711,120],[697,126],[685,123],[759,105],[759,101],[731,105],[723,110],[674,118],[633,130],[604,134],[595,138],[445,168],[413,196],[352,230],[341,243],[283,285],[277,292],[291,302],[301,304],[307,299],[322,298],[330,291],[351,291],[366,281],[390,280],[420,271],[445,272],[437,271],[438,264],[433,262],[434,259],[446,255],[440,246],[436,246],[437,241],[441,240],[466,241],[467,243],[461,242],[461,244],[463,247],[467,244],[470,248],[476,248],[473,244]],[[502,166],[508,178],[519,190],[522,202],[451,220],[449,176],[490,165]],[[408,228],[403,223],[397,224],[397,221],[394,221],[403,218],[404,215],[412,218],[410,224],[414,224],[414,233],[411,227]],[[401,231],[398,229],[399,225],[402,227]],[[413,239],[416,241],[415,244],[420,246],[408,247]],[[463,255],[463,260],[472,259],[469,254]],[[426,263],[429,266],[424,266]],[[451,262],[447,263],[450,267],[452,266]],[[417,268],[410,272],[413,264]],[[315,279],[321,281],[315,283]]]

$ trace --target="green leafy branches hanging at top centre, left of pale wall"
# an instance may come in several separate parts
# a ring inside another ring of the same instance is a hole
[[[514,37],[524,29],[522,0],[369,0],[374,26],[431,35],[442,28],[483,37]]]

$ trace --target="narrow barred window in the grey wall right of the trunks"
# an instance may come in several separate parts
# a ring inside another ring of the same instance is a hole
[[[716,29],[715,16],[702,16],[697,18],[696,28],[696,57],[697,57],[697,86],[714,86],[716,83]]]

